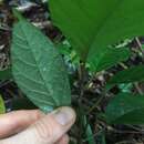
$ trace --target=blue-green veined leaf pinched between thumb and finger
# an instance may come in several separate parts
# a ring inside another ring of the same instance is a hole
[[[13,28],[12,72],[19,88],[41,110],[70,105],[71,94],[62,56],[35,27],[20,20]]]

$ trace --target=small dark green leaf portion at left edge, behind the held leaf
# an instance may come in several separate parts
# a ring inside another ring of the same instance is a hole
[[[12,79],[11,68],[0,71],[0,80]]]

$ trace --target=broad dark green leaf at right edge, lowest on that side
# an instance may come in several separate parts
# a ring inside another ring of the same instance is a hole
[[[105,110],[106,121],[113,124],[144,124],[144,95],[121,93]]]

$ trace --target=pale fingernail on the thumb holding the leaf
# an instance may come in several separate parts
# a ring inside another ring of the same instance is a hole
[[[54,112],[54,117],[61,125],[66,125],[75,119],[75,113],[71,107],[61,107]]]

